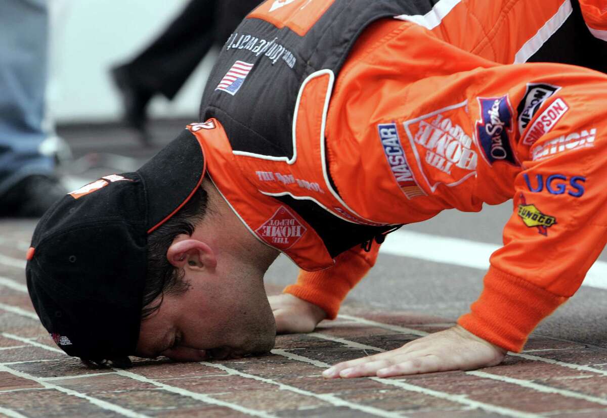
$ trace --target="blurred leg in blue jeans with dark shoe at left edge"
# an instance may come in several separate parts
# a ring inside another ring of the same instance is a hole
[[[0,0],[0,216],[38,217],[65,194],[45,141],[47,0]]]

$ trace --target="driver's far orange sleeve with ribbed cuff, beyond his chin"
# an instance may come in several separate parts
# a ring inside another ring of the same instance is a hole
[[[373,242],[369,252],[356,246],[335,258],[335,265],[320,271],[299,271],[297,283],[284,292],[324,309],[328,319],[335,319],[342,300],[375,265],[379,244]]]

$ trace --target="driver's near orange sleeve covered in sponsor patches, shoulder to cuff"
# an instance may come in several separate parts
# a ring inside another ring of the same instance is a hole
[[[327,123],[331,174],[349,207],[386,223],[514,198],[504,246],[459,324],[520,351],[607,241],[605,97],[603,73],[498,65],[403,25],[356,50],[339,75]],[[390,161],[397,153],[399,166]],[[423,193],[408,193],[412,186]]]

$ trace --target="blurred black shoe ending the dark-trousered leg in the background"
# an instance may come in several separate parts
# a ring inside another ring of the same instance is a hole
[[[124,122],[140,133],[141,140],[144,143],[148,143],[149,137],[146,131],[147,110],[154,93],[138,87],[124,66],[112,69],[111,73],[122,98]]]

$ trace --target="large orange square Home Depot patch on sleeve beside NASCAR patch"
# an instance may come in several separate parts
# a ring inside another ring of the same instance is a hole
[[[478,152],[467,126],[467,101],[403,123],[421,177],[434,192],[458,186],[476,174]]]

